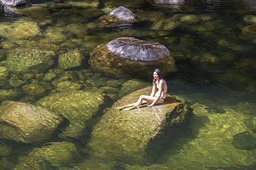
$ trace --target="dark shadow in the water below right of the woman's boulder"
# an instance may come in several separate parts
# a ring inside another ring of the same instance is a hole
[[[197,124],[196,129],[190,128],[191,124]],[[148,163],[164,163],[168,157],[175,155],[185,143],[193,141],[199,129],[209,122],[207,117],[193,116],[185,124],[180,126],[164,129],[150,141],[146,152],[148,153]]]

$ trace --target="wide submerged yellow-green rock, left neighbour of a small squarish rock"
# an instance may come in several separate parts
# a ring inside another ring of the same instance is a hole
[[[7,54],[6,68],[13,74],[40,73],[54,64],[55,52],[16,48]]]

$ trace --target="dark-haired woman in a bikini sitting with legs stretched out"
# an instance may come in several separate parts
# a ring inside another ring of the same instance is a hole
[[[142,95],[138,99],[138,102],[134,104],[128,104],[126,106],[122,106],[116,109],[126,108],[125,110],[132,110],[133,108],[138,107],[142,104],[147,104],[147,106],[154,106],[154,104],[164,103],[167,94],[166,80],[164,80],[162,72],[159,69],[154,70],[153,77],[153,87],[150,96]],[[157,92],[156,88],[158,88]]]

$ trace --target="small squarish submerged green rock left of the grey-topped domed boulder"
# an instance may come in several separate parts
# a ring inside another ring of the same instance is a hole
[[[81,66],[82,60],[84,60],[84,56],[76,49],[59,55],[58,62],[62,69],[68,69]]]

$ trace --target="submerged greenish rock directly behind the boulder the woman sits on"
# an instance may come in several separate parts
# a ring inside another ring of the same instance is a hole
[[[128,80],[122,84],[122,88],[119,91],[119,98],[130,94],[136,90],[140,90],[141,88],[146,88],[146,86],[150,86],[150,83],[140,80],[138,78]]]

